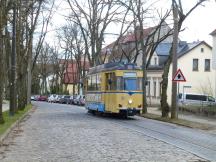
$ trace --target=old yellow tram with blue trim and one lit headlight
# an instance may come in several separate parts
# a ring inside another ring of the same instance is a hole
[[[135,64],[107,63],[91,68],[85,85],[86,109],[126,117],[141,113],[142,77]]]

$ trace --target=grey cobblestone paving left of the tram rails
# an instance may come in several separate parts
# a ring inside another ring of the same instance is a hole
[[[203,159],[86,113],[84,107],[36,103],[0,148],[1,162],[168,161]],[[123,120],[123,119],[116,119]]]

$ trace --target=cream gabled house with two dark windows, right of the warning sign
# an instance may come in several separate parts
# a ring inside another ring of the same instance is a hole
[[[178,68],[186,82],[179,83],[180,93],[197,93],[215,96],[215,70],[212,68],[212,47],[205,41],[188,43],[178,53]],[[168,76],[168,103],[171,103],[172,64]]]

